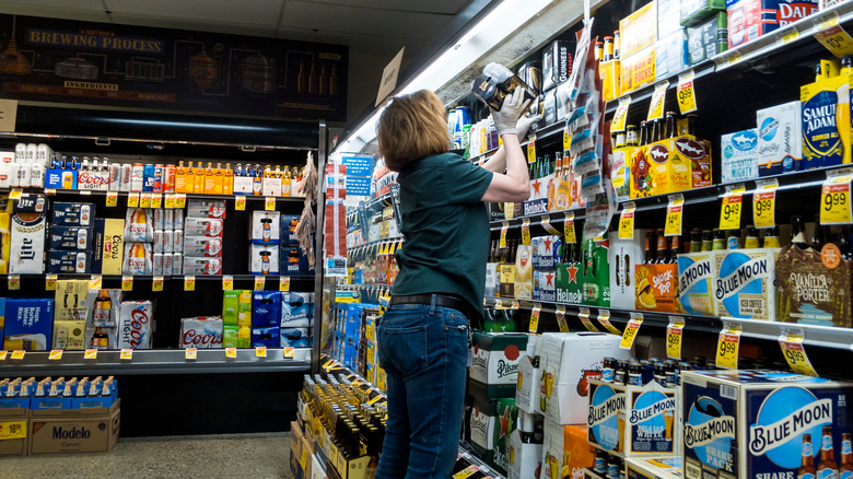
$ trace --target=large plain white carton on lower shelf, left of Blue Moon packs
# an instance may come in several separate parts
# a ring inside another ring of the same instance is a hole
[[[586,421],[589,379],[600,377],[604,358],[627,360],[621,338],[604,332],[546,332],[536,346],[540,366],[537,412],[560,424]]]

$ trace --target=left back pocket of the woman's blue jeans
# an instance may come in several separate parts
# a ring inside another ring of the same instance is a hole
[[[379,335],[379,365],[404,376],[426,367],[426,325],[393,328],[383,325]]]

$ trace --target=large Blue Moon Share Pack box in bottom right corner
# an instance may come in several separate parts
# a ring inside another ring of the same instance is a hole
[[[681,384],[685,478],[839,477],[853,383],[750,370],[682,372]]]

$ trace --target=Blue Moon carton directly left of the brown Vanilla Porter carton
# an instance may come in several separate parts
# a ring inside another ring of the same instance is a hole
[[[729,250],[716,268],[716,314],[738,319],[774,319],[779,248]]]

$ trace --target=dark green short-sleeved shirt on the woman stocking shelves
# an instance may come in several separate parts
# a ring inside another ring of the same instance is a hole
[[[454,153],[407,165],[400,184],[400,272],[393,294],[451,293],[482,314],[489,215],[480,201],[492,172]]]

